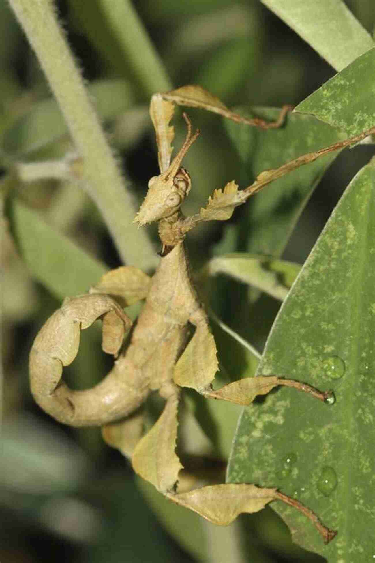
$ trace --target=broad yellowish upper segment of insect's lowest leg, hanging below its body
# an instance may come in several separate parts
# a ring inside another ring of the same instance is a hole
[[[171,395],[159,419],[139,441],[132,457],[134,471],[150,481],[161,493],[173,489],[182,469],[174,452],[178,426],[177,406],[178,394]]]

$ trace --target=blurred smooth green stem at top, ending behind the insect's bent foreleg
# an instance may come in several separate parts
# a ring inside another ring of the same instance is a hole
[[[98,5],[146,96],[172,90],[173,86],[160,57],[144,30],[132,2],[99,0]]]

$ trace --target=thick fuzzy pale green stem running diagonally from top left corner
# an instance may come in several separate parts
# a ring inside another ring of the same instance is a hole
[[[133,198],[125,190],[52,1],[10,0],[10,5],[60,104],[76,148],[83,157],[83,184],[100,208],[121,258],[125,263],[143,268],[155,265],[150,240],[132,223]]]

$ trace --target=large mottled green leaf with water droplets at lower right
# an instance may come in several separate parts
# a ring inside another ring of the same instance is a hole
[[[338,536],[328,546],[273,503],[302,547],[329,563],[372,560],[375,544],[375,159],[351,182],[284,301],[258,374],[333,388],[336,404],[278,390],[244,410],[231,482],[279,486]]]

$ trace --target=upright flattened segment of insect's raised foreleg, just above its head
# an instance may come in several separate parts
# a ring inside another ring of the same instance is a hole
[[[150,116],[156,133],[156,143],[160,172],[165,172],[170,164],[173,151],[174,128],[169,122],[174,114],[174,104],[164,100],[161,94],[154,94],[151,98]]]

